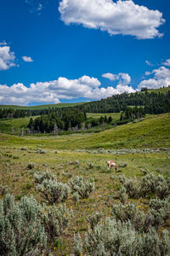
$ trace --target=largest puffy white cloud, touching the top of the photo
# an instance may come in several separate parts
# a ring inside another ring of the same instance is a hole
[[[159,10],[135,4],[133,0],[62,0],[59,13],[66,25],[75,23],[139,39],[161,37],[157,28],[165,22]]]

